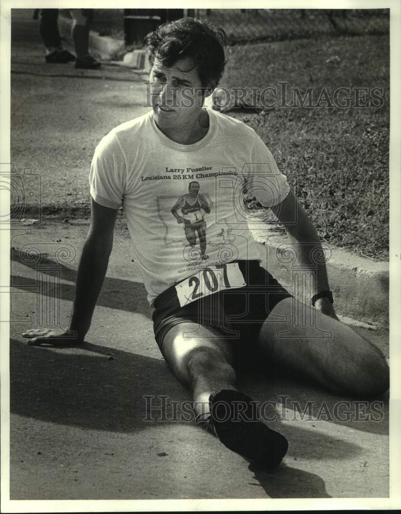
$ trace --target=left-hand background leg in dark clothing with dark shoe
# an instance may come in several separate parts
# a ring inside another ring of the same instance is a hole
[[[75,61],[75,56],[61,45],[58,17],[58,9],[40,9],[39,32],[46,47],[45,61],[50,64]]]

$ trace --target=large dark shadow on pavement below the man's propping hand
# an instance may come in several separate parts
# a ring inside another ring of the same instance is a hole
[[[143,430],[143,396],[189,397],[164,361],[92,343],[71,353],[11,339],[10,370],[11,412],[88,430]]]

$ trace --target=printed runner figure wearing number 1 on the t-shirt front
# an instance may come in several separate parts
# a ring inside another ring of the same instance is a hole
[[[197,236],[199,238],[200,251],[202,252],[202,260],[209,259],[209,255],[206,254],[205,214],[210,213],[210,206],[206,197],[198,194],[199,182],[190,182],[188,190],[188,194],[178,198],[171,212],[177,223],[184,224],[185,236],[189,245],[192,248],[196,245]]]

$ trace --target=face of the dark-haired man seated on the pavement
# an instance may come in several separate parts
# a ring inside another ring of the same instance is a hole
[[[179,130],[198,122],[205,97],[192,58],[179,59],[171,67],[156,58],[149,79],[155,121],[160,128]]]

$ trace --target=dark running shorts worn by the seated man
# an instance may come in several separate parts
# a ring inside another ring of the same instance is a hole
[[[259,261],[237,262],[247,284],[244,287],[225,289],[184,307],[180,307],[174,286],[156,298],[153,330],[162,354],[163,339],[170,328],[188,321],[211,327],[229,341],[257,338],[271,310],[281,300],[292,297]]]

